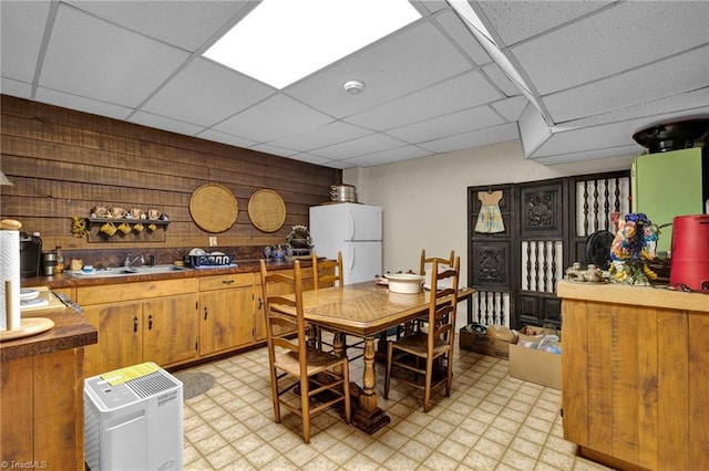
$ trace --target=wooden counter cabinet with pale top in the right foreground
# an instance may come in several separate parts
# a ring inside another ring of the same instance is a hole
[[[617,469],[709,469],[709,303],[561,282],[564,438]]]

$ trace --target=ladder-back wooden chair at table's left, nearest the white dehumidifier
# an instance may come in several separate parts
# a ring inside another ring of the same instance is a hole
[[[281,406],[296,414],[302,419],[302,438],[309,443],[310,420],[326,408],[343,402],[345,421],[350,422],[349,364],[346,356],[322,352],[307,342],[300,261],[294,262],[294,276],[287,276],[268,273],[261,260],[260,274],[276,422],[280,423]],[[288,292],[294,294],[280,294]]]

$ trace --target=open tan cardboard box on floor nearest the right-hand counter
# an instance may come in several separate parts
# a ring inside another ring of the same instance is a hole
[[[520,334],[517,343],[510,345],[510,376],[562,389],[562,355],[525,347],[526,342],[538,343],[538,338]],[[552,344],[562,346],[561,342]]]

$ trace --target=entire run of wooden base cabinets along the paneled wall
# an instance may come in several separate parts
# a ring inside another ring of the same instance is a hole
[[[312,269],[302,269],[302,278],[312,289]],[[84,317],[99,331],[99,343],[85,349],[86,376],[143,362],[182,365],[266,341],[259,273],[75,290]]]

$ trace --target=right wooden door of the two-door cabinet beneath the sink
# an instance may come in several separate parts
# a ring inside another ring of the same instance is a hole
[[[143,302],[143,362],[161,366],[197,357],[197,295]]]

